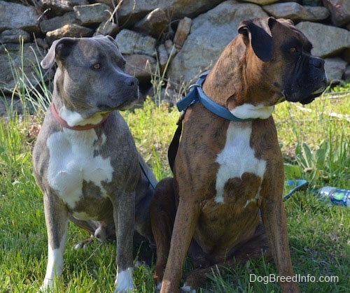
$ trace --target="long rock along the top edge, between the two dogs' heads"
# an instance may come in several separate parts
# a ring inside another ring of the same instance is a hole
[[[171,20],[185,16],[193,17],[214,8],[222,0],[123,0],[118,10],[118,20],[123,26],[130,27],[156,8],[165,10]]]

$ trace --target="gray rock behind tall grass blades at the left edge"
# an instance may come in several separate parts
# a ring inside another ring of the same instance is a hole
[[[39,50],[39,51],[38,51]],[[16,87],[19,90],[25,84],[36,85],[38,76],[37,60],[44,56],[44,52],[38,49],[34,43],[26,43],[21,50],[18,44],[6,44],[0,47],[0,92],[12,92]],[[25,74],[25,83],[19,80]],[[16,74],[17,73],[17,74]]]

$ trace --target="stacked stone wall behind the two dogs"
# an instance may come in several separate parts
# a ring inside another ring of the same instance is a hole
[[[179,91],[214,64],[241,20],[269,15],[295,22],[325,59],[330,80],[350,80],[349,0],[0,0],[0,90],[15,87],[13,66],[35,84],[31,64],[55,39],[109,34],[144,93],[165,69],[167,92]]]

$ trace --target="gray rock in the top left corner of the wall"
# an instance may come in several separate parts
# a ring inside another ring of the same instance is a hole
[[[36,19],[38,13],[33,6],[0,1],[0,31],[5,29],[24,29],[38,32]]]

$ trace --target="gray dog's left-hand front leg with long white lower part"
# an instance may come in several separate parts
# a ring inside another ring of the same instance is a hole
[[[48,266],[41,291],[52,290],[54,280],[62,275],[63,252],[66,245],[68,211],[55,196],[44,196],[45,222],[48,230]]]

